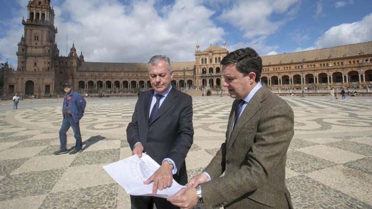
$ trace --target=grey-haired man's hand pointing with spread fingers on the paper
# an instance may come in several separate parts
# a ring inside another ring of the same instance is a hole
[[[173,180],[173,165],[168,163],[163,163],[158,170],[155,171],[150,178],[148,178],[143,184],[148,185],[151,182],[154,182],[152,187],[152,193],[156,194],[156,191],[163,190],[163,188],[169,187],[172,185]]]

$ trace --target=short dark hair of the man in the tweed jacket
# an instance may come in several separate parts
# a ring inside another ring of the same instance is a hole
[[[221,60],[221,65],[229,64],[234,64],[236,69],[244,73],[244,75],[250,72],[256,73],[256,82],[258,82],[261,77],[262,59],[255,49],[251,47],[240,48],[228,53]]]

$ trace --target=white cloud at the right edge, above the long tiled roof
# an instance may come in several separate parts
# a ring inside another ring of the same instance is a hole
[[[355,23],[344,23],[329,28],[315,42],[316,48],[340,46],[371,41],[372,13]]]

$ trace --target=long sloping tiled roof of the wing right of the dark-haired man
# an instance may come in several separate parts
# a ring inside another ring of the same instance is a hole
[[[274,65],[279,63],[296,63],[329,58],[342,58],[344,56],[360,55],[361,53],[372,54],[372,41],[344,46],[320,48],[308,51],[261,56],[261,58],[263,65]]]

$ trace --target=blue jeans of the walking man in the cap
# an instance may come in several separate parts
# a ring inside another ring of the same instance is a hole
[[[83,146],[83,142],[81,141],[81,134],[80,134],[80,126],[79,122],[75,123],[72,116],[65,115],[62,120],[62,126],[59,130],[59,141],[61,142],[60,149],[67,149],[67,131],[72,127],[72,131],[76,140],[75,149],[81,149]]]

